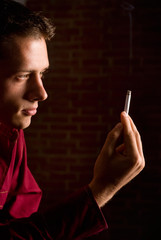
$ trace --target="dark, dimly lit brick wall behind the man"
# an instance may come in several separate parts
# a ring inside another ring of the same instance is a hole
[[[121,1],[28,0],[31,9],[53,17],[57,28],[44,81],[49,98],[25,130],[29,165],[44,191],[41,209],[89,183],[126,90],[132,90],[130,115],[142,135],[146,168],[104,207],[109,230],[91,239],[147,239],[148,224],[153,228],[159,216],[161,5],[131,3],[130,49],[130,18]]]

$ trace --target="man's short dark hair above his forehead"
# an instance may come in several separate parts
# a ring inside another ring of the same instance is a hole
[[[15,1],[0,0],[1,43],[14,35],[44,37],[47,41],[54,36],[54,31],[52,21],[41,13]]]

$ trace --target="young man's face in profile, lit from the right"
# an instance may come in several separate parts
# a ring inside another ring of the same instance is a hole
[[[16,36],[6,48],[0,60],[0,121],[23,129],[30,125],[38,102],[47,98],[42,83],[49,67],[46,42]]]

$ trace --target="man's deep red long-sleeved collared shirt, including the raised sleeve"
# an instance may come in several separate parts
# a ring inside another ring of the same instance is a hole
[[[84,187],[42,218],[42,191],[27,166],[23,130],[0,123],[0,239],[83,239],[107,228]]]

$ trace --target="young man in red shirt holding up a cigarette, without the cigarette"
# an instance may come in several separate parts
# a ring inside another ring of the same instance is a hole
[[[107,228],[100,208],[144,168],[140,135],[125,112],[108,134],[88,186],[56,210],[38,214],[41,190],[27,166],[23,129],[47,98],[48,19],[0,2],[0,239],[83,239]],[[118,146],[118,139],[123,142]],[[45,225],[46,223],[46,225]]]

